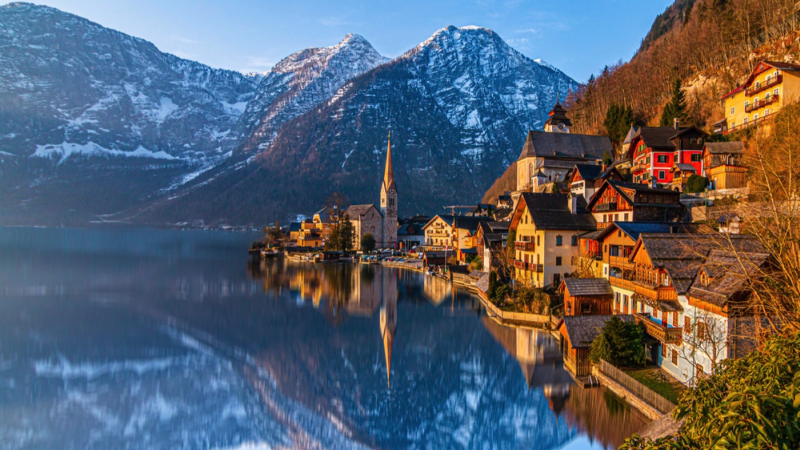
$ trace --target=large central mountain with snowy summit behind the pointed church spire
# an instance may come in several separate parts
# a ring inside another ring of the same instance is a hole
[[[251,138],[266,145],[236,171],[136,217],[256,224],[308,214],[334,191],[375,202],[389,130],[401,215],[477,202],[557,95],[577,86],[492,30],[447,26],[346,82],[274,139]]]

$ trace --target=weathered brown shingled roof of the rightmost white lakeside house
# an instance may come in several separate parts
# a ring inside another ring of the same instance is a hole
[[[770,255],[765,252],[739,252],[712,250],[700,267],[711,277],[710,283],[704,284],[700,276],[694,278],[689,295],[696,299],[724,307],[728,300],[739,292],[746,291],[748,274],[758,272],[764,267]]]

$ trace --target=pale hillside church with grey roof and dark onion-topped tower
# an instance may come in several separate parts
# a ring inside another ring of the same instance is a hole
[[[528,131],[517,159],[517,191],[538,191],[543,184],[566,181],[575,164],[599,165],[613,157],[607,136],[577,135],[570,126],[566,110],[556,102],[545,131]]]

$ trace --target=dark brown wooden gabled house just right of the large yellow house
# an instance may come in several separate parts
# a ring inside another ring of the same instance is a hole
[[[680,192],[614,179],[602,184],[587,207],[598,229],[612,222],[671,222],[686,215]]]

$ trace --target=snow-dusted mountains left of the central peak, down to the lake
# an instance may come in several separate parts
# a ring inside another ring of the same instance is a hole
[[[245,75],[47,6],[0,6],[0,223],[82,225],[146,207],[236,167],[259,136],[382,62],[348,34]]]

